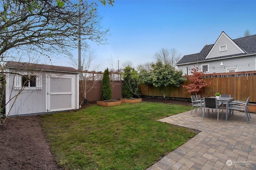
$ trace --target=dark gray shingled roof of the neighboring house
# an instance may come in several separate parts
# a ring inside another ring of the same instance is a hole
[[[214,47],[214,44],[205,45],[203,47],[203,49],[200,51],[200,53],[184,55],[182,57],[182,59],[180,59],[180,61],[178,61],[178,63],[176,65],[204,62],[204,61],[210,61],[210,60],[214,60],[214,59],[222,59],[222,58],[227,58],[227,57],[238,57],[238,56],[242,56],[242,55],[256,54],[256,35],[250,35],[247,37],[232,39],[232,41],[234,41],[234,43],[236,43],[236,45],[238,45],[242,50],[244,50],[245,53],[226,55],[226,56],[206,59],[206,56],[211,51],[211,49]]]

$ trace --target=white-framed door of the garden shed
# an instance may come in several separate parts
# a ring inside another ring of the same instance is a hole
[[[46,112],[75,109],[74,78],[46,75]]]

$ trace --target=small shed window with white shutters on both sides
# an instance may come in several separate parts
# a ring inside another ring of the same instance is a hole
[[[15,75],[14,90],[42,90],[42,76]]]

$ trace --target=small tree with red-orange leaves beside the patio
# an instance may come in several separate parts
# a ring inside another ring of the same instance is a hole
[[[185,87],[188,91],[186,93],[191,93],[191,94],[198,94],[198,92],[201,92],[204,87],[210,86],[212,82],[210,83],[205,83],[204,79],[201,77],[204,76],[204,71],[200,71],[198,67],[191,68],[191,73],[192,75],[186,75],[186,78],[190,80],[192,83],[188,85],[183,85],[182,87]]]

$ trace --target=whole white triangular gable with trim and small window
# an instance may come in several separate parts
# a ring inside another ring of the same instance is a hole
[[[206,56],[206,59],[245,53],[234,41],[222,31],[214,46]]]

